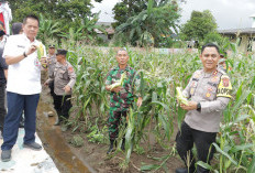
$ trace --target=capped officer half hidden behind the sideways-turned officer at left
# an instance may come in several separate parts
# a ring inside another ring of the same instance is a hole
[[[48,45],[48,54],[47,54],[47,61],[48,61],[48,76],[53,76],[57,60],[56,60],[56,48],[54,44],[49,44]],[[51,96],[53,97],[53,101],[54,101],[54,97],[55,97],[55,93],[54,93],[54,82],[51,82],[48,84],[48,88],[49,88],[49,93]],[[54,104],[55,105],[55,104]],[[48,111],[48,116],[53,116],[52,111]]]

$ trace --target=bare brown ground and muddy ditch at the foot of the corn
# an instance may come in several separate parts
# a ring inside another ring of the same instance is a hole
[[[123,169],[123,152],[120,151],[110,156],[107,155],[108,144],[97,144],[89,142],[85,133],[73,132],[71,129],[68,129],[65,132],[62,131],[59,126],[54,126],[55,116],[47,117],[47,111],[54,111],[54,109],[48,89],[43,88],[37,109],[37,133],[43,142],[45,150],[53,158],[56,166],[62,173],[141,172],[140,169],[144,164],[148,165],[163,163],[164,160],[157,161],[155,159],[169,155],[171,148],[174,147],[174,137],[177,132],[177,125],[175,125],[175,132],[171,137],[173,139],[170,142],[167,142],[170,147],[169,150],[163,149],[155,141],[155,139],[149,140],[151,150],[148,150],[148,143],[142,142],[141,147],[143,147],[146,152],[143,154],[132,152],[129,167]],[[76,148],[69,142],[76,134],[79,134],[84,139],[84,144],[80,148]],[[182,165],[184,164],[181,160],[176,154],[166,161],[166,169],[162,167],[156,172],[174,173],[177,167]]]

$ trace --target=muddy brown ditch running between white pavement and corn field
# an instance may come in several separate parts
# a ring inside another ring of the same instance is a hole
[[[44,149],[60,173],[95,173],[96,171],[85,160],[71,152],[60,127],[54,126],[55,117],[47,116],[48,111],[53,111],[49,100],[49,96],[43,91],[37,108],[37,133]]]

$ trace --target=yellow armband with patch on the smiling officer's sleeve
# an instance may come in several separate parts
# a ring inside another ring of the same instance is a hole
[[[229,97],[231,98],[232,85],[228,75],[222,75],[220,84],[218,86],[217,97]]]

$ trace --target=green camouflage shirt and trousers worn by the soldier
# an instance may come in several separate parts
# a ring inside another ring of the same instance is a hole
[[[134,95],[140,96],[137,91],[140,78],[136,75],[136,71],[130,66],[126,66],[125,69],[120,69],[119,66],[111,69],[107,76],[106,85],[114,84],[115,80],[121,78],[121,74],[123,73],[126,73],[123,88],[120,93],[111,91],[110,95],[109,136],[111,140],[118,138],[119,125],[122,120],[125,121],[126,112],[134,101]]]

